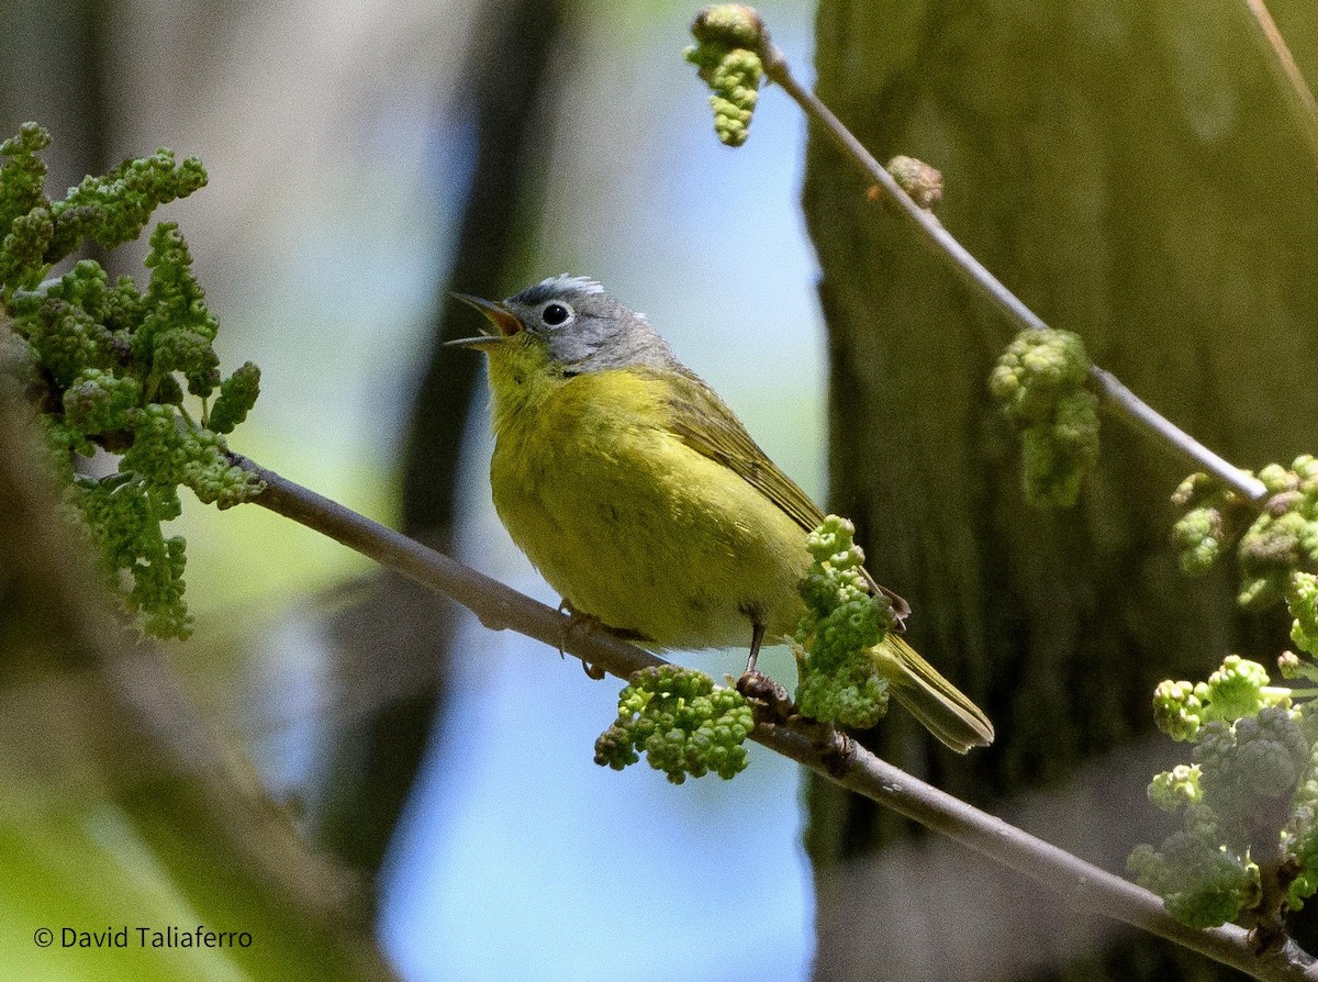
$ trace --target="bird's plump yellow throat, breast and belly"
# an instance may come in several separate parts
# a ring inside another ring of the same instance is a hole
[[[805,533],[672,431],[662,376],[564,378],[500,347],[494,506],[551,587],[656,647],[746,646],[753,620],[771,637],[795,629]]]

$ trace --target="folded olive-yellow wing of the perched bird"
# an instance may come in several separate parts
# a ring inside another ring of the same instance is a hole
[[[666,373],[666,378],[670,382],[668,405],[672,410],[670,424],[683,443],[739,475],[803,530],[812,531],[824,522],[818,505],[770,460],[741,420],[699,376],[684,372],[672,377]],[[903,620],[911,613],[911,605],[887,587],[880,587],[869,569],[863,572],[871,589],[892,601],[892,613],[900,630]]]

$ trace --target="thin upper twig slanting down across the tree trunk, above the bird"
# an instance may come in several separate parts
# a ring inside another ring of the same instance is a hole
[[[866,177],[878,185],[888,200],[896,206],[898,214],[952,264],[952,268],[969,286],[983,295],[1010,320],[1023,328],[1048,330],[1048,324],[1043,318],[1027,307],[1024,301],[1008,290],[998,277],[971,256],[944,228],[932,211],[916,204],[887,169],[874,158],[874,154],[865,149],[865,145],[855,138],[851,130],[833,115],[833,111],[817,95],[804,88],[796,80],[782,50],[768,40],[767,30],[762,30],[762,37],[760,58],[764,65],[764,74],[782,86],[783,91],[801,107],[805,115],[824,128],[824,132],[832,137],[842,153],[851,158],[865,171]],[[1097,365],[1090,365],[1089,374],[1103,394],[1104,405],[1108,410],[1116,413],[1130,423],[1149,430],[1191,464],[1213,475],[1249,501],[1261,505],[1268,497],[1268,490],[1264,488],[1263,481],[1223,460],[1169,419],[1160,415],[1152,406],[1143,402],[1135,393],[1118,382],[1110,372],[1104,372]]]

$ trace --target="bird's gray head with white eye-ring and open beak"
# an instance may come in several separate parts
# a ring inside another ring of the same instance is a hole
[[[497,303],[455,295],[484,312],[500,335],[453,344],[490,348],[526,333],[526,340],[544,344],[550,361],[564,374],[677,364],[668,343],[650,327],[645,314],[622,306],[585,277],[564,273]]]

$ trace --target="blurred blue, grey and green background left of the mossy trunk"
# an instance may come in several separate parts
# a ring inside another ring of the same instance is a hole
[[[565,270],[602,281],[824,492],[804,123],[771,94],[746,148],[714,140],[681,59],[695,9],[5,0],[0,129],[51,130],[54,190],[157,146],[200,157],[210,186],[158,217],[188,239],[225,368],[262,369],[235,448],[555,604],[489,504],[478,357],[434,351],[440,333],[478,328],[449,289],[505,297]],[[808,5],[762,9],[808,75]],[[107,262],[136,275],[140,256]],[[681,788],[643,766],[598,768],[617,684],[261,509],[190,501],[177,526],[196,630],[158,647],[182,704],[353,874],[344,895],[398,977],[805,975],[793,766],[753,749],[737,782]],[[697,663],[721,675],[735,658]],[[783,678],[789,664],[768,663]],[[16,841],[49,823],[38,804],[9,816]],[[55,848],[96,877],[40,894],[33,881],[53,874],[20,862],[30,846],[0,853],[3,974],[253,973],[243,952],[36,949],[47,923],[206,911],[158,869],[141,823],[84,804]]]

